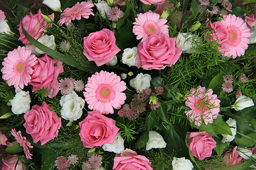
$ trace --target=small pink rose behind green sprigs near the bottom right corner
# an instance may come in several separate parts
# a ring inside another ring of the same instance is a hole
[[[236,152],[237,148],[238,146],[234,147],[228,152],[225,152],[222,160],[223,166],[233,166],[241,163],[242,157],[240,157],[238,152]]]

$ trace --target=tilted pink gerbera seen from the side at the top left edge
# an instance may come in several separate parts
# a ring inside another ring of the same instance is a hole
[[[90,15],[94,16],[94,13],[92,13],[93,6],[94,4],[90,1],[82,1],[81,3],[78,2],[75,4],[72,8],[65,8],[63,13],[60,14],[58,25],[62,26],[65,23],[68,26],[71,20],[80,20],[81,17],[89,18]]]

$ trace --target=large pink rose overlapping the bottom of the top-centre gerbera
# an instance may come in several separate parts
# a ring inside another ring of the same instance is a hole
[[[136,66],[143,69],[164,69],[171,67],[181,57],[181,50],[175,47],[176,38],[164,34],[151,35],[138,45]]]

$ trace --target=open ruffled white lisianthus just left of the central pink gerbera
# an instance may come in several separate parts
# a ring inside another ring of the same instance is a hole
[[[82,108],[85,106],[85,100],[78,96],[75,91],[71,94],[63,95],[60,98],[61,117],[65,120],[78,120],[82,115]]]

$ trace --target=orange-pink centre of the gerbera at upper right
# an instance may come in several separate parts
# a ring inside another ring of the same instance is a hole
[[[230,45],[238,46],[242,39],[242,33],[236,26],[230,26],[228,28],[228,41]]]

